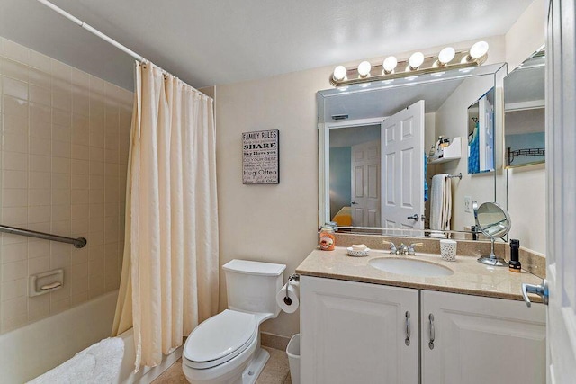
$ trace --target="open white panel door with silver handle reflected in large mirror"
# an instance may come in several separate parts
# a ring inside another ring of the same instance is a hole
[[[383,121],[381,140],[382,226],[424,228],[424,100]]]

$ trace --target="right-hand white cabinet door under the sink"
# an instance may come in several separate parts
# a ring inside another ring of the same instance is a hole
[[[420,308],[422,384],[545,382],[544,305],[422,290]]]

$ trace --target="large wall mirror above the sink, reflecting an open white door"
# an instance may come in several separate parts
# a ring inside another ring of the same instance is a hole
[[[497,201],[498,178],[467,172],[468,107],[492,90],[498,114],[501,92],[494,90],[501,91],[505,72],[506,65],[494,64],[320,91],[320,224],[421,236],[429,228],[432,176],[450,174],[462,177],[448,191],[450,229],[473,225],[464,197]],[[493,127],[501,132],[498,120]],[[449,140],[450,156],[427,161],[439,136]]]

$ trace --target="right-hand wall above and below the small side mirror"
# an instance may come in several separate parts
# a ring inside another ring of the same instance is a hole
[[[545,43],[545,0],[535,0],[506,34],[509,71]],[[546,252],[545,165],[508,171],[508,210],[512,219],[510,238],[541,254]]]

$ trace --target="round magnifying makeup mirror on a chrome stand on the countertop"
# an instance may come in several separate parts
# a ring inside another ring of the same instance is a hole
[[[493,266],[507,266],[508,263],[501,257],[494,255],[494,241],[497,238],[505,237],[512,227],[512,221],[507,210],[504,210],[495,202],[484,202],[479,207],[477,201],[473,201],[474,219],[476,226],[482,233],[491,238],[490,255],[482,255],[478,263]]]

